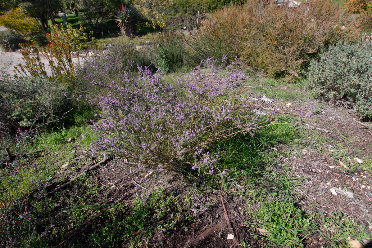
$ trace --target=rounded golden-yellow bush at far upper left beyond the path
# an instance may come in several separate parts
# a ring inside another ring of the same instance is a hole
[[[39,23],[19,8],[11,9],[0,16],[0,25],[24,36],[37,33],[40,30]]]

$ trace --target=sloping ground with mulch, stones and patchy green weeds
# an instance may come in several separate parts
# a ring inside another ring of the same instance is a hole
[[[42,151],[26,154],[25,168],[48,164],[50,183],[46,197],[31,193],[25,202],[38,203],[27,232],[33,246],[320,248],[347,247],[348,237],[368,244],[372,125],[312,100],[301,84],[261,83],[253,98],[255,112],[302,123],[219,144],[211,152],[225,174],[139,171],[116,157],[102,160],[90,153],[99,137],[89,127],[35,142]]]

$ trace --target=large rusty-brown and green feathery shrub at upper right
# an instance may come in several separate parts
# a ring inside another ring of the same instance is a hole
[[[187,61],[221,54],[240,58],[248,68],[270,76],[299,77],[306,61],[340,40],[356,40],[356,22],[328,0],[302,2],[299,7],[278,7],[274,2],[248,0],[210,14],[188,40]]]

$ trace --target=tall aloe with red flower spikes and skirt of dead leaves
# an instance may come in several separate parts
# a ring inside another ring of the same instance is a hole
[[[133,36],[136,32],[136,24],[140,20],[139,14],[127,8],[123,4],[118,6],[118,13],[115,15],[115,22],[120,27],[121,33],[126,36]]]

